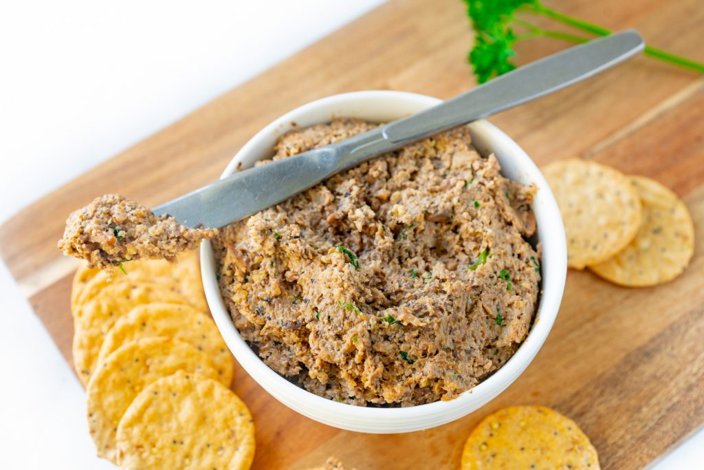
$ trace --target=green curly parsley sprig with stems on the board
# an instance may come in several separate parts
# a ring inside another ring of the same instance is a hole
[[[589,23],[579,18],[567,16],[548,8],[540,0],[465,0],[467,14],[472,20],[475,32],[474,47],[468,56],[477,82],[484,83],[497,75],[510,72],[516,68],[513,58],[516,55],[515,44],[534,37],[550,37],[579,44],[591,37],[572,35],[569,32],[547,30],[518,18],[518,13],[528,16],[544,16],[574,30],[584,31],[589,35],[607,36],[611,31],[600,25]],[[517,32],[516,29],[519,31]],[[676,66],[689,68],[704,73],[704,63],[689,58],[670,54],[670,52],[646,47],[644,54]]]

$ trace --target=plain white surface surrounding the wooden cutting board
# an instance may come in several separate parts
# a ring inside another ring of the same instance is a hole
[[[0,221],[380,3],[0,3]],[[0,468],[114,468],[1,262],[0,294]],[[657,468],[696,468],[703,449],[700,432]]]

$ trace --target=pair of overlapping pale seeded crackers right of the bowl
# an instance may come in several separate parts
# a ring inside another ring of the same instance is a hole
[[[694,254],[694,224],[674,192],[643,176],[568,159],[543,168],[567,236],[567,265],[627,287],[684,272]]]

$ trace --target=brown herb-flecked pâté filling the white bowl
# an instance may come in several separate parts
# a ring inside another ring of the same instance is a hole
[[[374,127],[294,130],[274,159]],[[409,406],[472,388],[526,338],[539,293],[534,187],[500,171],[458,128],[227,226],[213,243],[234,325],[331,400]]]

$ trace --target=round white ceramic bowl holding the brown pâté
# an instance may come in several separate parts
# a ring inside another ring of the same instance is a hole
[[[222,173],[224,178],[255,161],[272,156],[277,137],[293,128],[329,122],[333,117],[355,117],[371,121],[388,121],[407,116],[439,104],[440,100],[421,94],[367,91],[337,94],[294,109],[263,128],[234,156]],[[220,297],[215,279],[215,260],[210,242],[201,245],[203,286],[210,311],[227,346],[239,364],[259,385],[296,412],[329,426],[363,433],[406,433],[432,428],[461,418],[482,407],[508,387],[530,364],[548,336],[558,314],[567,272],[565,230],[553,194],[529,156],[507,135],[486,121],[472,123],[474,145],[482,154],[494,152],[502,173],[511,180],[536,183],[538,191],[533,210],[542,242],[541,268],[543,292],[534,327],[514,356],[493,376],[472,390],[450,401],[440,401],[405,408],[356,407],[327,400],[279,376],[269,369],[242,340],[232,324]]]

